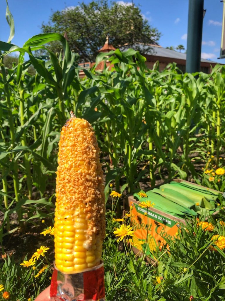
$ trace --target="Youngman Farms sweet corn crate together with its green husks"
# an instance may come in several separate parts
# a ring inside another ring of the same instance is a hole
[[[219,191],[175,179],[129,196],[129,206],[133,206],[131,226],[135,230],[133,242],[136,248],[141,252],[146,250],[146,255],[152,257],[152,250],[163,248],[167,238],[176,236],[179,224],[185,224],[186,216],[216,215],[219,194]],[[140,206],[146,200],[154,206],[148,209]]]

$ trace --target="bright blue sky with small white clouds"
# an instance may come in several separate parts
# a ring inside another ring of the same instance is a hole
[[[41,33],[42,22],[47,23],[52,11],[76,6],[72,0],[8,0],[15,21],[15,36],[12,43],[22,46],[26,40]],[[82,2],[82,1],[80,1]],[[90,0],[85,0],[89,3]],[[120,1],[123,2],[123,1]],[[129,1],[131,2],[131,0]],[[140,5],[143,17],[162,33],[162,47],[187,45],[188,0],[133,0]],[[125,2],[124,2],[125,3]],[[206,14],[202,31],[202,58],[225,64],[220,55],[223,4],[220,0],[205,0]],[[0,0],[0,40],[7,42],[9,27],[5,20],[6,3]]]

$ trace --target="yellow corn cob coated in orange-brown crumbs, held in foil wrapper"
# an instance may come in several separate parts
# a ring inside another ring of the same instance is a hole
[[[100,263],[105,237],[99,148],[85,119],[72,116],[62,127],[56,174],[55,265],[80,272]]]

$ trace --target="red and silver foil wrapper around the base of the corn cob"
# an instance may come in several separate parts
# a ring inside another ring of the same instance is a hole
[[[103,262],[75,274],[64,274],[55,268],[51,280],[50,300],[105,301]]]

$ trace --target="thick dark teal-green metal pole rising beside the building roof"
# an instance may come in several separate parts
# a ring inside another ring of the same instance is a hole
[[[189,0],[186,72],[200,71],[204,0]]]

